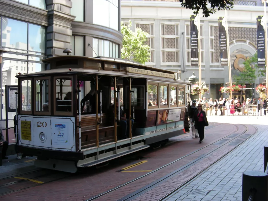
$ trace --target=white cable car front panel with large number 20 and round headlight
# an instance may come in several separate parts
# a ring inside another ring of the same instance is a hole
[[[40,135],[44,137],[43,140]],[[51,149],[50,117],[33,117],[33,138],[35,148]]]

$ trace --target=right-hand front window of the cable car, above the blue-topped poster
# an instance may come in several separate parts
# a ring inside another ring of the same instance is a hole
[[[55,79],[56,112],[72,112],[72,80],[67,77]]]

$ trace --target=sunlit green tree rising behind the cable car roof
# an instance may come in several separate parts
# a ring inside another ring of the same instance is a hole
[[[123,34],[123,46],[121,49],[121,58],[137,61],[141,64],[145,64],[150,59],[150,47],[145,42],[148,40],[145,31],[137,28],[135,32],[131,31],[132,26],[129,20],[129,25],[123,25],[121,22],[121,33]]]

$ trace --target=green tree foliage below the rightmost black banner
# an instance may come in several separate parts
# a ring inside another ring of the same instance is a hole
[[[255,53],[252,57],[244,61],[245,69],[239,75],[234,76],[236,84],[245,85],[248,83],[255,83],[257,76],[265,76],[265,68],[257,65],[258,55]]]

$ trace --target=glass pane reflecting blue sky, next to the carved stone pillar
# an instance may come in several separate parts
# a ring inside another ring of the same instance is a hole
[[[45,53],[45,27],[29,24],[29,43],[28,50]]]

